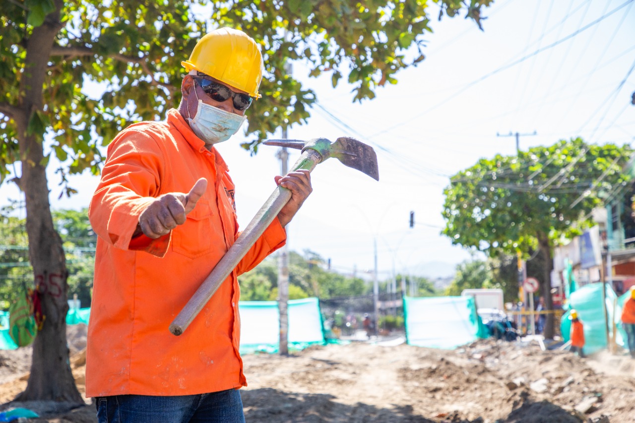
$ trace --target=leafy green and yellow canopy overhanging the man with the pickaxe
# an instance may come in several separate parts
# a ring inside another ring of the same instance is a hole
[[[463,11],[480,26],[481,8],[491,0],[434,3],[439,18]],[[68,163],[60,168],[62,182],[67,172],[90,168],[98,174],[100,145],[134,121],[163,119],[178,104],[180,62],[215,27],[244,30],[263,53],[263,98],[250,109],[248,132],[255,138],[246,146],[255,149],[267,133],[305,122],[316,101],[316,93],[287,71],[288,62],[301,60],[311,76],[330,74],[333,86],[344,77],[354,86],[354,100],[373,98],[378,86],[396,83],[399,70],[424,59],[430,21],[424,0],[3,1],[0,177],[20,159],[12,120],[25,113],[29,133],[39,140],[50,135],[45,160],[55,154]],[[56,30],[53,46],[37,51],[29,43],[32,33],[50,25]],[[46,62],[46,73],[33,81],[43,88],[44,102],[25,111],[20,86],[34,55]],[[91,89],[95,83],[103,92]]]

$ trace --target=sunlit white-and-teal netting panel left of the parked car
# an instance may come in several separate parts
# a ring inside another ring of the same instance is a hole
[[[404,297],[403,303],[410,345],[454,349],[485,335],[473,297]]]

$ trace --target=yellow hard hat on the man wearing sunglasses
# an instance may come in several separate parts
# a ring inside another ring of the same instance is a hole
[[[199,39],[189,60],[181,64],[190,72],[196,69],[260,98],[262,54],[256,42],[241,30],[219,28]]]

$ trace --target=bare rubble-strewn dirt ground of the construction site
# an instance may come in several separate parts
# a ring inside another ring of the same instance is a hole
[[[69,326],[71,366],[84,389],[86,328]],[[601,352],[578,358],[537,341],[481,340],[453,351],[397,337],[315,346],[288,357],[243,357],[248,422],[626,423],[635,422],[635,361]],[[32,422],[92,423],[95,407],[52,412],[10,403],[26,386],[30,351],[0,351],[0,409],[22,406]],[[168,422],[169,423],[169,422]]]

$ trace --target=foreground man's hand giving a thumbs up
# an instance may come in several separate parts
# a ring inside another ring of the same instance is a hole
[[[139,224],[133,238],[143,233],[148,238],[156,239],[170,233],[177,225],[184,224],[187,213],[194,210],[196,202],[206,189],[207,180],[200,178],[187,194],[169,192],[154,199],[139,216]]]

